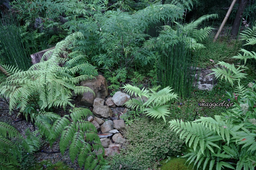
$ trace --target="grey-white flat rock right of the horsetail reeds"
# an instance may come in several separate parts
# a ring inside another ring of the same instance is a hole
[[[206,70],[206,69],[198,69],[195,74],[195,81],[194,81],[194,86],[198,86],[198,89],[200,90],[212,90],[212,88],[216,85],[216,79],[215,79],[215,74],[206,76],[213,71],[211,70]],[[197,83],[197,77],[199,74],[199,81]]]

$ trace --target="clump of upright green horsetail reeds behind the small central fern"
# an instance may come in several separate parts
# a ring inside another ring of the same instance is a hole
[[[188,97],[193,87],[197,59],[191,59],[191,50],[184,38],[168,49],[157,47],[157,80],[161,88],[172,87],[180,97]]]

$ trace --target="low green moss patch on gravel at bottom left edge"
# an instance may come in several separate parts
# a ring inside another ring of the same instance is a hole
[[[46,168],[44,168],[46,167]],[[67,165],[65,165],[63,162],[57,162],[56,164],[52,164],[50,160],[45,160],[42,162],[38,162],[36,163],[35,167],[30,167],[29,170],[34,170],[34,169],[45,169],[45,170],[73,170],[73,168],[68,167]]]

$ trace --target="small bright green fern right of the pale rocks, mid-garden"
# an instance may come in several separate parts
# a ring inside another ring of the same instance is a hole
[[[124,91],[126,91],[130,95],[135,95],[136,97],[140,97],[141,100],[137,99],[130,99],[125,103],[127,107],[130,107],[132,110],[139,111],[142,113],[147,113],[147,116],[153,118],[160,118],[162,117],[165,120],[165,116],[170,114],[168,110],[168,106],[166,103],[171,101],[172,99],[177,99],[178,95],[174,92],[171,92],[173,89],[170,87],[166,87],[162,90],[158,90],[160,86],[147,89],[140,89],[138,87],[132,86],[130,84],[124,85]],[[151,92],[149,92],[151,91]],[[143,97],[148,98],[147,101],[143,100]]]

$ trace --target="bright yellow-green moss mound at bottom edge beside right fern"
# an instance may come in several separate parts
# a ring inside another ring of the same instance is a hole
[[[177,158],[177,157],[172,157],[171,160],[169,160],[167,163],[165,163],[167,159],[164,159],[160,162],[162,165],[160,168],[161,170],[192,170],[193,166],[186,164],[186,159],[184,158]]]

